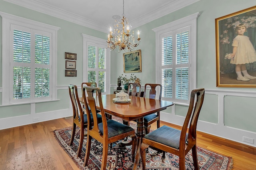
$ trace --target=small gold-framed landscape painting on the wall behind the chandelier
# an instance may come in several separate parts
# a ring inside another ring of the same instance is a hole
[[[141,50],[123,54],[124,72],[141,72]]]

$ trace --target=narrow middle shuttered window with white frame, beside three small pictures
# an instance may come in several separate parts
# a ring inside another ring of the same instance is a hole
[[[110,93],[110,51],[106,40],[84,36],[83,82],[96,82],[102,94]],[[86,68],[86,69],[85,69]]]

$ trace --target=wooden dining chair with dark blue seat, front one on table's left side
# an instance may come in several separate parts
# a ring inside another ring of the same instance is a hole
[[[111,120],[106,119],[105,111],[102,104],[100,88],[86,86],[83,88],[83,96],[85,96],[85,90],[88,93],[88,98],[87,98],[88,102],[84,102],[84,103],[85,103],[86,111],[88,111],[89,109],[88,106],[90,106],[91,108],[94,126],[92,126],[90,123],[91,115],[87,114],[87,119],[89,120],[89,122],[88,122],[88,130],[87,130],[88,132],[87,132],[86,153],[84,157],[84,166],[87,166],[88,164],[92,138],[99,141],[103,145],[101,170],[106,170],[108,144],[116,142],[120,139],[124,139],[124,137],[129,137],[129,136],[132,137],[132,160],[134,160],[136,143],[137,143],[135,130],[132,127],[129,127],[127,125],[124,125],[112,119]],[[98,100],[95,100],[93,96],[94,91],[98,92],[98,96],[95,97],[95,98],[98,98]],[[97,119],[96,102],[100,107],[100,113],[102,115],[102,123],[98,122],[98,119]]]

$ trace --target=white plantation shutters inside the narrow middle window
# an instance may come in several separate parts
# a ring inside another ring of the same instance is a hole
[[[88,45],[88,82],[96,82],[106,92],[106,48]]]

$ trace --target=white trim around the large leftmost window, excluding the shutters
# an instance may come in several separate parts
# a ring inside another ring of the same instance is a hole
[[[2,105],[10,105],[10,82],[12,77],[10,75],[10,60],[11,60],[11,30],[12,24],[20,25],[22,27],[27,27],[31,29],[37,29],[41,31],[46,31],[52,34],[52,74],[51,83],[52,94],[51,100],[57,99],[57,31],[60,27],[48,25],[45,23],[40,23],[38,21],[29,20],[19,16],[14,16],[4,12],[0,12],[2,16]],[[54,49],[54,50],[53,50]],[[8,57],[6,57],[8,56]],[[39,101],[31,101],[31,103]],[[26,102],[27,103],[27,102]]]

